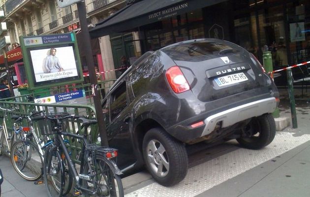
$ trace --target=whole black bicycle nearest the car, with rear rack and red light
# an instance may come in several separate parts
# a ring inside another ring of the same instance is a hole
[[[78,122],[82,123],[82,128],[84,127],[83,135],[62,131],[62,120],[68,118],[77,119]],[[51,122],[51,130],[42,133],[42,135],[54,134],[55,136],[53,145],[50,145],[50,148],[44,154],[43,163],[43,179],[49,197],[61,197],[63,195],[64,169],[62,157],[66,159],[69,173],[72,174],[76,183],[74,195],[124,197],[120,177],[122,172],[114,161],[117,157],[117,150],[88,143],[87,128],[96,124],[96,120],[69,115],[68,113],[45,115],[43,119]],[[75,164],[70,159],[62,135],[79,139],[82,142],[80,173],[77,172]],[[56,182],[58,182],[58,185],[55,186]],[[56,188],[59,190],[56,190]]]

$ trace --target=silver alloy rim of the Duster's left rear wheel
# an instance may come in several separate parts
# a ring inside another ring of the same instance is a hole
[[[169,173],[169,158],[165,147],[159,141],[153,139],[148,143],[147,159],[158,177],[164,177]]]

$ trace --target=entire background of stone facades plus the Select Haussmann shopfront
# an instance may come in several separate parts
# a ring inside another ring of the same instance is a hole
[[[57,0],[1,0],[1,3],[12,43],[19,43],[20,35],[71,31],[77,32],[79,43],[76,4],[60,8]],[[263,51],[269,50],[276,68],[310,60],[309,0],[85,0],[85,3],[93,57],[100,71],[120,68],[123,57],[130,64],[146,51],[204,37],[237,43],[261,62]],[[83,46],[80,44],[79,48],[87,70]],[[299,72],[299,77],[308,71],[293,70]],[[104,77],[113,79],[119,75],[118,71],[112,71]]]

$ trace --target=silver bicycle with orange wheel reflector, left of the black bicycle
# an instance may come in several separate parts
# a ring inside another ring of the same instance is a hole
[[[12,116],[12,118],[15,119],[15,123],[26,119],[30,126],[15,127],[15,130],[23,130],[27,132],[27,134],[25,133],[25,137],[22,140],[16,141],[11,150],[11,161],[16,172],[28,181],[37,181],[42,177],[44,161],[43,150],[53,144],[53,141],[48,137],[44,137],[40,140],[33,128],[33,121],[41,120],[44,112],[45,111],[33,112],[29,116]],[[46,143],[44,144],[44,142]],[[63,194],[69,193],[72,187],[72,177],[67,175],[66,180],[66,187],[64,187]],[[42,181],[38,181],[35,184],[40,183],[42,183]]]

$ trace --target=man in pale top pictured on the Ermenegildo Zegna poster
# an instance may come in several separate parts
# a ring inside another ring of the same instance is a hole
[[[43,71],[44,73],[63,71],[63,68],[56,57],[57,50],[55,48],[50,49],[50,55],[44,59]]]

